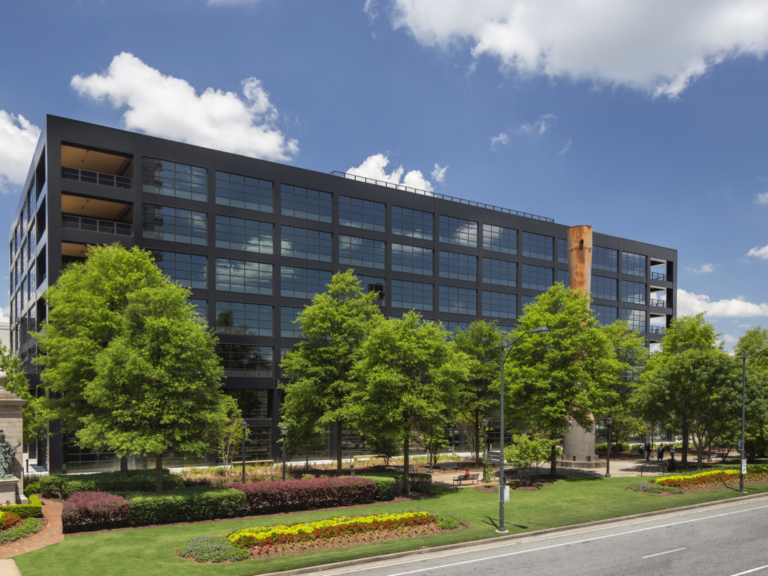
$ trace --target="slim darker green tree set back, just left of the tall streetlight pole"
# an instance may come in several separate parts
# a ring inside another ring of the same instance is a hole
[[[502,331],[495,323],[475,320],[467,329],[456,330],[456,349],[468,358],[467,381],[462,386],[458,416],[474,436],[475,460],[480,462],[480,425],[498,413],[498,379],[501,374]]]

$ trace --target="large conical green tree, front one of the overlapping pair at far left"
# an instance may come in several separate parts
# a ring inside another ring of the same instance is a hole
[[[221,438],[233,409],[220,392],[216,336],[189,296],[168,280],[127,295],[117,335],[96,355],[83,392],[91,413],[75,432],[81,445],[153,454],[158,493],[163,452],[202,454]]]

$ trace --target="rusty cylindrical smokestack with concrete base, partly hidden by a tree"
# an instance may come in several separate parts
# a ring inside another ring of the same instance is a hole
[[[592,289],[591,226],[568,228],[568,282],[573,290],[584,290],[589,296]],[[605,461],[594,453],[594,429],[587,432],[580,425],[571,424],[563,437],[563,455],[558,465],[569,468],[604,467]]]

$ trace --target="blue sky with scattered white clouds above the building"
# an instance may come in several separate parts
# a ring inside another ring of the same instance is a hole
[[[729,343],[766,324],[765,2],[58,0],[0,15],[2,230],[35,127],[58,114],[674,247],[679,313],[710,310]],[[0,259],[7,286],[7,243]]]

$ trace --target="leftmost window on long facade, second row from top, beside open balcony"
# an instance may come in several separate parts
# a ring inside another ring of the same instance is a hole
[[[141,237],[187,244],[206,245],[205,212],[141,204]]]

